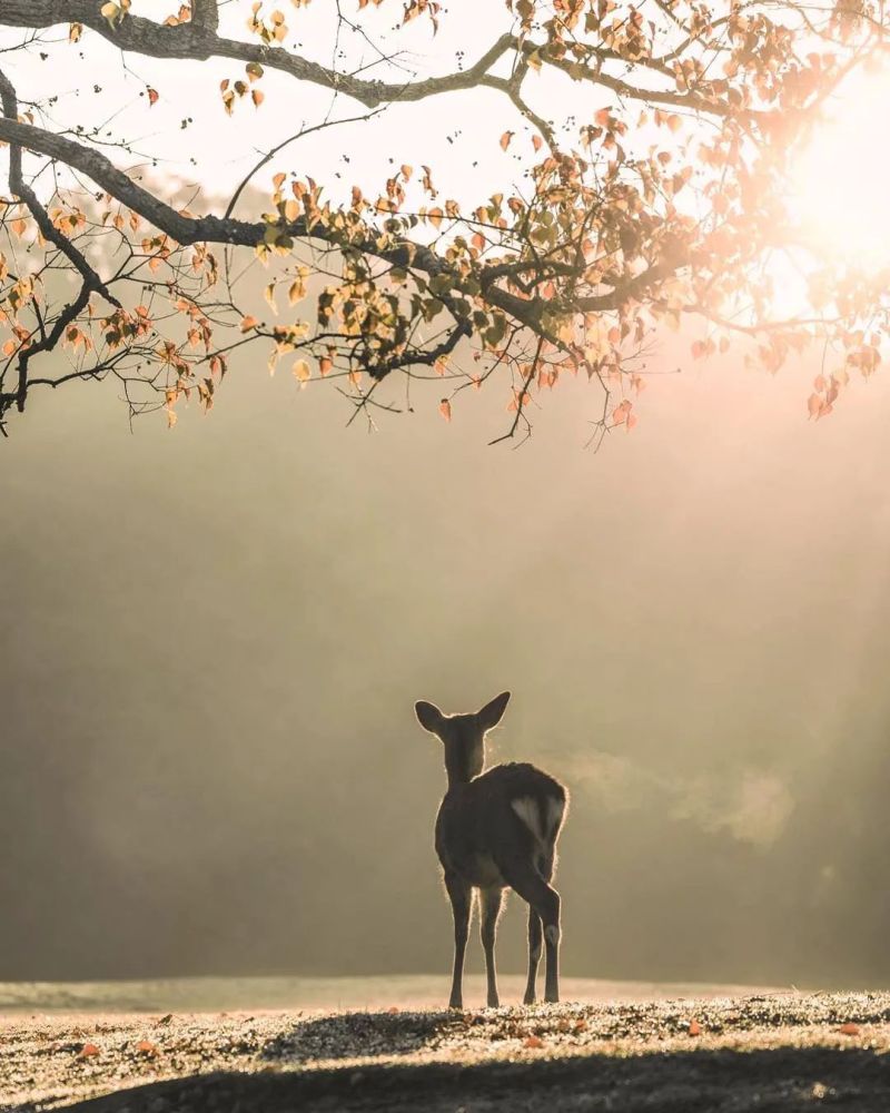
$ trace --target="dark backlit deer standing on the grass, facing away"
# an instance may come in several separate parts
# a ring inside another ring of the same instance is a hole
[[[565,788],[526,762],[485,768],[485,736],[504,716],[510,692],[482,710],[443,715],[427,700],[415,703],[417,721],[445,751],[448,778],[436,816],[436,854],[454,914],[454,969],[449,1008],[463,1009],[464,954],[479,894],[479,935],[485,953],[487,1004],[500,1005],[495,936],[504,889],[528,904],[528,981],[523,1003],[534,1004],[542,927],[546,947],[544,999],[560,999],[560,894],[553,888],[556,839],[567,807]]]

